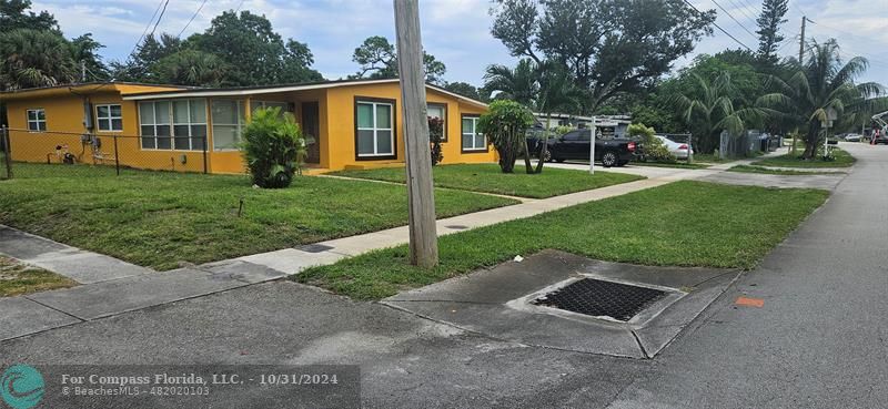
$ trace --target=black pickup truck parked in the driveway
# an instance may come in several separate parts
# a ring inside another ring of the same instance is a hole
[[[549,137],[546,156],[543,160],[564,162],[568,160],[589,160],[589,130],[571,131],[559,137]],[[533,140],[531,140],[533,139]],[[528,137],[527,146],[536,153],[537,157],[543,151],[542,141],[536,136]],[[595,160],[601,161],[604,167],[624,166],[634,157],[638,144],[635,141],[614,137],[595,140]]]

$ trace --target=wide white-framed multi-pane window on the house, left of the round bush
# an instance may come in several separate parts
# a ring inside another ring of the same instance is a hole
[[[139,130],[142,149],[202,151],[206,137],[206,101],[140,102]]]

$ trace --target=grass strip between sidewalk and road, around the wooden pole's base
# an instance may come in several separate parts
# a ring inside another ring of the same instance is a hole
[[[379,299],[545,248],[645,265],[749,268],[827,196],[818,190],[676,182],[441,237],[436,268],[410,266],[407,247],[398,246],[311,268],[295,279]]]

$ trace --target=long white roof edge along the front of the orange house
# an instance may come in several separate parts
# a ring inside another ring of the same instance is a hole
[[[160,92],[144,92],[139,94],[124,94],[123,99],[128,101],[140,101],[140,100],[153,100],[153,99],[161,99],[161,98],[199,98],[199,96],[246,96],[246,95],[260,95],[260,94],[268,94],[268,93],[279,93],[279,92],[293,92],[293,91],[309,91],[309,90],[322,90],[322,89],[331,89],[331,88],[341,88],[341,86],[355,86],[355,85],[365,85],[365,84],[383,84],[383,83],[392,83],[398,82],[398,79],[380,79],[380,80],[367,80],[367,79],[357,79],[357,80],[335,80],[335,81],[319,81],[319,82],[304,82],[297,84],[278,84],[278,85],[262,85],[262,86],[238,86],[238,88],[200,88],[200,89],[189,89],[189,90],[173,90],[173,91],[160,91]],[[441,92],[443,94],[456,98],[458,100],[463,100],[474,105],[484,106],[486,108],[487,104],[484,102],[460,95],[457,93],[447,91],[441,86],[433,85],[426,83],[426,88],[432,89],[436,92]]]

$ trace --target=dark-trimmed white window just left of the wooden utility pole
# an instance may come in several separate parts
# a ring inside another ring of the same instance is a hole
[[[394,156],[394,104],[380,101],[357,101],[357,156]]]

